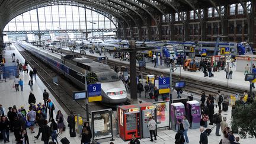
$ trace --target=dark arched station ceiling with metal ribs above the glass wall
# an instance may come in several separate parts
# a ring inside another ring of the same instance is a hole
[[[0,30],[17,15],[25,11],[48,5],[77,5],[105,12],[124,27],[145,24],[145,19],[170,12],[191,11],[203,7],[236,3],[246,0],[0,0]],[[193,4],[193,7],[191,7]],[[86,5],[86,6],[85,6]]]

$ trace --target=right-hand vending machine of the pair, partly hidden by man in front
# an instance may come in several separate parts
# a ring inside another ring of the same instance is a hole
[[[152,103],[139,104],[140,107],[140,119],[141,119],[141,137],[150,137],[148,122],[149,117],[152,117],[156,121],[156,105]]]

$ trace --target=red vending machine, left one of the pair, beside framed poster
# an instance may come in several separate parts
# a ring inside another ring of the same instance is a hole
[[[122,105],[118,107],[119,133],[123,140],[132,139],[135,134],[140,138],[140,108],[139,105]]]

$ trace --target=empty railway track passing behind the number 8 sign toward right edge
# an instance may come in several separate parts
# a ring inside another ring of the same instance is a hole
[[[70,53],[68,50],[63,50],[66,53]],[[92,56],[92,55],[86,55],[86,57],[93,59],[97,62],[103,62],[98,60],[98,57]],[[107,59],[107,64],[114,67],[114,65],[117,66],[126,66],[128,69],[130,69],[129,64],[123,63],[123,62],[116,62],[114,60],[111,59]],[[142,73],[143,76],[148,75],[149,73],[153,73],[154,75],[164,75],[164,76],[169,76],[169,73],[167,72],[159,72],[156,70],[152,70],[152,69],[145,69],[145,71],[139,71],[139,68],[137,67],[137,73]],[[227,87],[226,85],[216,85],[216,84],[212,84],[210,82],[207,81],[199,81],[196,79],[192,79],[192,78],[187,78],[184,76],[177,76],[177,75],[172,75],[172,84],[174,84],[175,81],[185,81],[186,85],[184,88],[184,91],[187,91],[191,94],[196,94],[196,95],[201,95],[201,91],[206,92],[206,95],[209,94],[213,94],[216,95],[217,91],[220,90],[222,92],[223,95],[235,95],[235,94],[239,94],[242,95],[245,89],[238,89],[238,88],[230,88]]]

